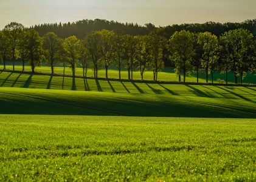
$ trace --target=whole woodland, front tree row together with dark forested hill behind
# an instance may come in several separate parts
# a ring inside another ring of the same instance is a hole
[[[134,70],[138,70],[144,80],[146,71],[157,73],[165,66],[175,67],[181,82],[186,74],[196,72],[206,74],[206,83],[213,72],[234,72],[235,83],[238,76],[255,72],[256,65],[256,19],[241,23],[182,24],[155,27],[123,24],[100,19],[83,20],[67,24],[41,24],[24,27],[11,22],[0,32],[0,59],[4,64],[12,61],[28,62],[35,72],[41,62],[47,62],[54,74],[57,62],[69,66],[72,75],[78,64],[86,78],[89,68],[98,78],[98,70],[105,69],[108,78],[109,66],[119,70],[125,65],[128,79],[133,80]],[[63,72],[64,74],[64,72]]]

